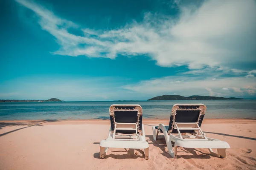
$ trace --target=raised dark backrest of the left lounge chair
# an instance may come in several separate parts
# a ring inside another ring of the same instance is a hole
[[[116,123],[137,123],[138,132],[142,130],[142,112],[140,105],[111,105],[109,108],[111,130]],[[131,130],[116,130],[116,133],[132,134]]]

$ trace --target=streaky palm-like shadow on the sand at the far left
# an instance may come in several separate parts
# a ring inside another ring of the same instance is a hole
[[[9,127],[9,126],[26,126],[26,127],[21,127],[21,128],[15,129],[15,130],[11,130],[9,132],[2,133],[2,134],[0,134],[0,137],[7,135],[9,133],[15,132],[17,130],[28,128],[28,127],[43,126],[42,124],[47,123],[47,122],[60,122],[60,121],[64,121],[64,120],[47,119],[47,120],[25,121],[25,122],[0,122],[0,129],[2,129],[3,127]]]

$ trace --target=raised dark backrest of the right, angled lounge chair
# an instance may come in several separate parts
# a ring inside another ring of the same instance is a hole
[[[168,133],[178,133],[174,123],[198,123],[199,127],[204,119],[206,106],[203,104],[175,104],[172,107]],[[195,130],[180,130],[180,133],[195,133]]]

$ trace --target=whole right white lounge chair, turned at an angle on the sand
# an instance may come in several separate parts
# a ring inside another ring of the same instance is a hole
[[[154,140],[157,140],[159,132],[163,133],[172,158],[177,158],[177,147],[208,148],[212,156],[225,158],[226,149],[230,148],[230,145],[227,142],[206,137],[200,128],[205,111],[206,106],[203,104],[175,104],[169,126],[163,124],[153,126]],[[172,143],[174,143],[174,150]],[[214,153],[213,148],[217,149],[218,153]]]

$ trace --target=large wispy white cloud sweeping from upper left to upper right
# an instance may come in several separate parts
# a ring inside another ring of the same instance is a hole
[[[143,22],[111,31],[79,28],[36,3],[16,1],[34,11],[42,29],[56,38],[61,47],[53,54],[111,59],[117,54],[148,54],[157,65],[191,69],[255,61],[254,0],[208,0],[197,8],[175,0],[181,11],[178,18],[146,13]],[[81,29],[84,36],[71,34],[69,27]]]

